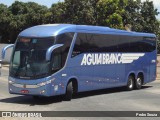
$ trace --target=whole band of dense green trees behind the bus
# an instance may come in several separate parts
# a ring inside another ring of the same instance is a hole
[[[155,33],[160,38],[157,9],[146,0],[65,0],[47,8],[34,2],[0,4],[0,36],[3,43],[14,43],[22,30],[39,24],[69,23],[99,25]]]

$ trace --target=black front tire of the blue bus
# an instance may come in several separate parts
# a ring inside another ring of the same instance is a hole
[[[65,100],[70,101],[73,95],[73,86],[72,82],[69,82],[66,88]]]

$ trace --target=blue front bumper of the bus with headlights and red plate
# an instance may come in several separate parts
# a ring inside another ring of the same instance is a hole
[[[58,85],[52,80],[40,82],[39,84],[15,83],[9,81],[9,93],[33,96],[55,96],[59,94]]]

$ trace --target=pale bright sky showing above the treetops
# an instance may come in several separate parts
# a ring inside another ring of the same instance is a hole
[[[51,7],[53,3],[64,0],[0,0],[0,3],[10,6],[15,1],[22,1],[22,2],[32,1],[41,5],[45,5],[47,7]],[[146,0],[141,0],[141,1],[146,1]],[[149,0],[149,1],[153,1],[155,8],[157,8],[158,11],[160,12],[160,0]],[[157,16],[157,18],[160,20],[160,14],[159,16]]]

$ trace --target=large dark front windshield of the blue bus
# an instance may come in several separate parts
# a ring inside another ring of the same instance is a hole
[[[50,61],[46,51],[54,44],[54,38],[18,38],[12,60],[10,75],[22,79],[36,79],[49,74]]]

